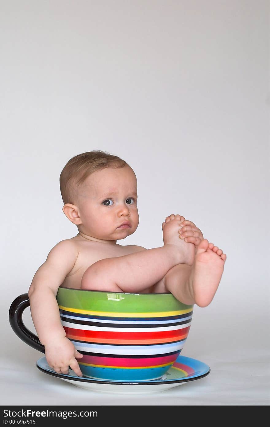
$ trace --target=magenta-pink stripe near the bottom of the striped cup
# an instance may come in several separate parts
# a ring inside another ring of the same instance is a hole
[[[89,363],[90,365],[102,365],[102,366],[158,366],[164,365],[165,363],[174,362],[179,353],[171,354],[170,356],[164,357],[145,357],[145,358],[136,358],[136,357],[100,357],[100,356],[90,356],[84,354],[78,362]]]

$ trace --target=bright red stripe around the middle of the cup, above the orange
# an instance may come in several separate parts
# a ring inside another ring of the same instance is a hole
[[[182,329],[175,330],[163,330],[159,332],[111,332],[111,331],[98,331],[98,330],[82,330],[67,328],[64,326],[64,330],[67,335],[75,336],[81,341],[87,341],[87,338],[98,338],[100,342],[102,339],[158,339],[158,338],[173,338],[175,336],[184,335],[189,332],[190,326]]]

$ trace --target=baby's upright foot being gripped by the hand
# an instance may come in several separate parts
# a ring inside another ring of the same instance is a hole
[[[178,230],[180,229],[180,215],[167,216],[162,224],[163,242],[165,245],[173,245],[174,253],[177,257],[178,264],[188,264],[191,266],[195,258],[195,245],[187,243],[180,239]]]

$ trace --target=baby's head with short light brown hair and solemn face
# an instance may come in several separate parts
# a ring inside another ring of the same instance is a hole
[[[139,225],[136,175],[117,156],[101,150],[76,155],[61,172],[60,190],[63,212],[81,234],[115,241]],[[128,226],[119,228],[123,222]]]

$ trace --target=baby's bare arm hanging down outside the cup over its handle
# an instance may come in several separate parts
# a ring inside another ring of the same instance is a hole
[[[78,376],[82,376],[76,358],[83,355],[66,337],[55,298],[58,287],[73,268],[77,256],[78,249],[71,240],[59,242],[35,273],[28,295],[32,320],[38,338],[45,347],[48,365],[58,374],[67,374],[70,366]]]

